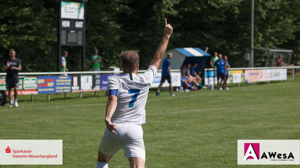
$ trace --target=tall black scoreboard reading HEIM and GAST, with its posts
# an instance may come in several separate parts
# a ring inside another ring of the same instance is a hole
[[[60,70],[61,46],[82,46],[81,69],[85,60],[85,3],[60,1],[58,23],[57,70]]]

